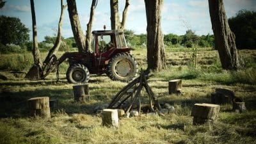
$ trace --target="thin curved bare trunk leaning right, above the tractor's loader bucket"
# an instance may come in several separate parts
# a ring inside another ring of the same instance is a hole
[[[56,41],[52,47],[52,49],[50,49],[50,51],[48,52],[45,60],[44,60],[44,65],[47,65],[47,63],[49,63],[49,61],[51,60],[51,57],[53,55],[56,55],[56,53],[58,52],[59,48],[60,48],[60,44],[61,44],[61,31],[62,31],[62,21],[63,21],[63,15],[64,15],[64,10],[65,8],[67,8],[67,5],[63,5],[63,0],[61,0],[61,14],[60,14],[60,20],[59,20],[59,24],[58,24],[58,35],[56,38]]]

